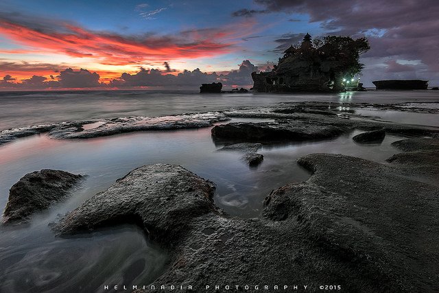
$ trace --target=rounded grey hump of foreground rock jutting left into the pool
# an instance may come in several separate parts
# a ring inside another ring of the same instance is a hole
[[[93,196],[56,225],[62,235],[101,226],[138,223],[153,239],[176,242],[187,224],[217,213],[215,185],[178,165],[145,165]]]

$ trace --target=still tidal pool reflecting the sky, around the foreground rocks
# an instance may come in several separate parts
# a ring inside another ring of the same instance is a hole
[[[243,119],[234,120],[243,121]],[[0,291],[60,292],[75,288],[94,292],[104,283],[147,284],[166,266],[163,250],[145,240],[141,231],[125,226],[86,237],[54,237],[47,224],[108,188],[117,178],[145,164],[174,163],[217,184],[215,203],[230,215],[249,218],[261,212],[272,189],[307,180],[309,173],[296,164],[300,156],[316,152],[342,153],[385,163],[397,137],[379,145],[357,145],[359,131],[327,141],[263,145],[264,161],[249,168],[239,152],[217,152],[211,128],[167,132],[139,132],[113,137],[57,141],[45,135],[19,139],[0,148],[0,206],[8,189],[21,176],[43,168],[87,174],[73,196],[31,226],[0,231]]]

